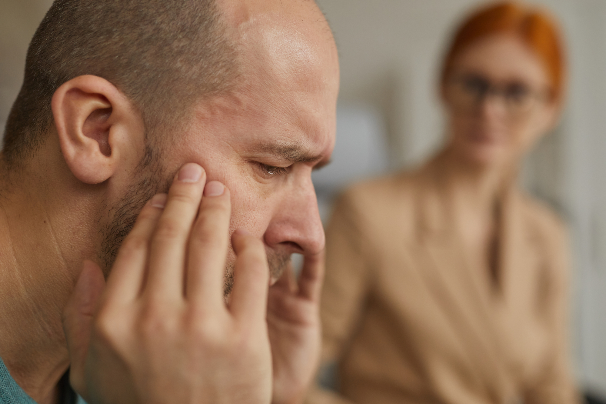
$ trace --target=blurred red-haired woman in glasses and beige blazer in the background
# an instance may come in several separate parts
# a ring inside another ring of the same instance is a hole
[[[322,322],[340,393],[309,402],[575,403],[564,226],[516,184],[564,101],[559,30],[542,10],[491,5],[442,71],[444,149],[336,206]]]

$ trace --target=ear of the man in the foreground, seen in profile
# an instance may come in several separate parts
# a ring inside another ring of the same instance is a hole
[[[121,154],[144,136],[132,103],[98,76],[78,76],[62,84],[53,95],[52,109],[65,161],[87,184],[112,177],[126,157]]]

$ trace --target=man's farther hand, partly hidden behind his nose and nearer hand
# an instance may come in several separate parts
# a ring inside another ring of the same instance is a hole
[[[267,325],[273,356],[273,404],[296,404],[316,372],[321,348],[319,300],[324,253],[305,257],[297,281],[289,265],[271,286]]]

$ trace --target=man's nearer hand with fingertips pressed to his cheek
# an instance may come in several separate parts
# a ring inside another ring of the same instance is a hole
[[[229,191],[186,164],[125,239],[104,287],[87,261],[64,314],[73,387],[96,403],[269,403],[261,240],[233,235],[229,305],[223,283]],[[99,299],[96,297],[99,296]]]

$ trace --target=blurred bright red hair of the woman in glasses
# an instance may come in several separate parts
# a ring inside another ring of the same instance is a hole
[[[502,1],[472,13],[459,27],[442,67],[442,84],[450,76],[456,56],[473,42],[496,34],[511,34],[521,39],[541,59],[551,83],[553,98],[564,92],[564,45],[556,21],[535,7]]]

